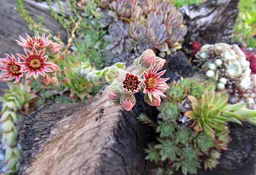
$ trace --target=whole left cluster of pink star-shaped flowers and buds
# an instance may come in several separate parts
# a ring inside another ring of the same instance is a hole
[[[17,43],[24,47],[26,55],[16,53],[18,60],[14,54],[6,53],[6,58],[0,58],[0,69],[4,70],[0,74],[0,79],[4,81],[13,80],[13,83],[21,81],[24,73],[27,73],[26,79],[34,76],[35,79],[39,77],[42,87],[49,85],[58,85],[58,79],[55,74],[58,70],[58,65],[52,61],[46,62],[48,56],[55,57],[60,51],[60,44],[49,40],[43,34],[39,36],[37,32],[35,37],[31,37],[26,33],[27,39],[20,36],[21,41],[16,40]],[[23,61],[21,61],[21,59]]]

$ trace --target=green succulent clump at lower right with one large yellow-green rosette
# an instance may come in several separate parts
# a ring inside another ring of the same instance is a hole
[[[146,149],[146,159],[158,165],[155,173],[197,173],[197,168],[214,168],[220,151],[231,141],[227,121],[255,123],[256,111],[245,103],[228,104],[225,91],[216,92],[213,81],[182,78],[166,90],[167,98],[158,109],[157,122],[139,119],[159,132],[158,143]],[[181,94],[179,94],[181,93]]]

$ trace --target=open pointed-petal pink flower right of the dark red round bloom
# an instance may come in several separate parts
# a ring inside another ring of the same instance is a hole
[[[147,93],[149,95],[150,100],[152,101],[152,95],[158,97],[160,99],[160,95],[165,96],[164,91],[168,87],[167,81],[169,78],[160,78],[166,70],[163,70],[159,73],[157,71],[160,68],[160,64],[153,70],[153,66],[151,65],[148,73],[144,71],[144,91],[143,93]],[[153,71],[152,71],[153,70]]]

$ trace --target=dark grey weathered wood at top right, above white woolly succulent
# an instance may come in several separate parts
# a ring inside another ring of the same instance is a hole
[[[184,46],[200,40],[202,44],[216,42],[233,43],[233,28],[238,14],[239,0],[207,0],[200,6],[181,7],[184,19],[187,20],[188,33]]]

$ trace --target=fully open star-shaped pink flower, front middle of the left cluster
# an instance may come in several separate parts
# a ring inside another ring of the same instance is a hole
[[[35,79],[37,78],[38,73],[40,73],[42,76],[45,75],[45,71],[46,72],[52,72],[52,70],[50,67],[52,66],[52,62],[45,62],[47,59],[47,55],[43,56],[45,53],[45,49],[41,50],[40,53],[37,53],[37,50],[35,47],[33,47],[33,51],[30,52],[29,50],[25,49],[25,52],[27,54],[27,56],[23,55],[23,54],[18,54],[23,60],[24,62],[18,62],[18,65],[23,66],[23,68],[21,69],[21,72],[27,72],[28,74],[26,76],[26,79],[29,78],[30,76],[32,76],[32,74],[34,75]]]

